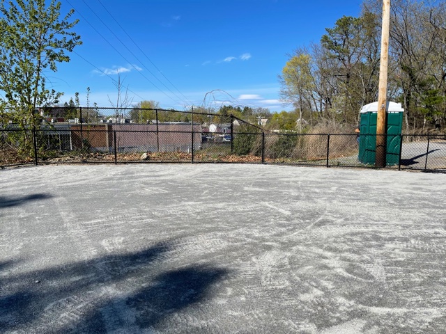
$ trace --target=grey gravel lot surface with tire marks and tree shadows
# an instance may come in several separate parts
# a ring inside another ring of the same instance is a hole
[[[445,333],[446,175],[0,170],[0,333]]]

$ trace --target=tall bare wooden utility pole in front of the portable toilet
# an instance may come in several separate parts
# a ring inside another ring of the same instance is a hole
[[[375,166],[385,167],[387,153],[387,63],[389,58],[390,0],[383,0],[383,30],[381,33],[381,60],[378,86],[378,115],[376,118]]]

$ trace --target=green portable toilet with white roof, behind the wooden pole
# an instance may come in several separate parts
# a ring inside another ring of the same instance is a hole
[[[401,148],[401,129],[403,128],[403,111],[401,103],[387,102],[387,150],[385,164],[394,166],[399,163]],[[361,109],[360,150],[358,159],[362,164],[375,164],[376,154],[376,118],[378,102],[366,104]]]

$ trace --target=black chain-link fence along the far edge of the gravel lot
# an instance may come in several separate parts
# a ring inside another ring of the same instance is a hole
[[[67,115],[79,117],[61,117]],[[0,127],[2,167],[156,162],[375,166],[376,136],[268,132],[231,115],[112,108],[69,114],[58,108],[40,111],[35,125],[21,125],[3,112]],[[386,139],[392,150],[387,168],[446,171],[446,136]]]

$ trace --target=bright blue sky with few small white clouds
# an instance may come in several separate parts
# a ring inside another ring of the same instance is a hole
[[[218,109],[222,104],[290,110],[279,101],[281,73],[297,47],[318,42],[360,0],[62,0],[75,9],[83,45],[47,77],[61,102],[111,106],[117,72],[133,104]],[[213,93],[209,93],[213,92]],[[206,95],[206,93],[208,93]]]

